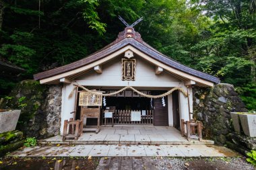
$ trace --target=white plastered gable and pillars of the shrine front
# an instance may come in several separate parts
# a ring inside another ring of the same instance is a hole
[[[154,87],[164,89],[171,87],[181,86],[185,91],[187,91],[187,87],[185,87],[184,83],[179,79],[173,77],[169,73],[165,71],[160,75],[156,75],[154,72],[155,66],[143,60],[142,58],[136,58],[136,71],[135,71],[135,81],[129,81],[129,85],[133,87],[152,87],[150,89],[154,89]],[[62,111],[61,111],[61,134],[63,133],[63,123],[64,120],[69,120],[69,118],[73,118],[73,114],[70,112],[74,111],[74,103],[75,103],[75,93],[71,98],[69,98],[69,94],[73,90],[73,84],[75,81],[79,83],[79,85],[86,86],[105,86],[105,87],[123,87],[128,84],[128,81],[121,80],[121,58],[116,58],[110,62],[106,62],[106,64],[102,65],[102,74],[96,73],[93,69],[85,73],[84,75],[77,77],[71,84],[63,85],[63,96],[62,96]],[[191,88],[189,89],[189,93],[192,94]],[[187,105],[187,97],[183,95],[183,93],[179,92],[179,103],[180,103],[180,115],[185,121],[189,120],[189,112]],[[190,105],[191,112],[193,111],[193,102],[192,95],[190,95]],[[168,95],[168,125],[173,126],[173,113],[172,113],[172,95]]]

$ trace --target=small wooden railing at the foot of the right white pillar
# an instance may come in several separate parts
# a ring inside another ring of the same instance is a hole
[[[200,121],[195,122],[195,120],[191,120],[191,122],[185,122],[183,119],[181,119],[181,136],[186,136],[187,140],[189,141],[191,139],[198,139],[199,141],[201,141],[202,128],[203,124]]]

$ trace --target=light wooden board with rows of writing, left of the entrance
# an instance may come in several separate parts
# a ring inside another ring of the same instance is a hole
[[[79,106],[102,105],[102,95],[96,95],[89,92],[79,92]]]

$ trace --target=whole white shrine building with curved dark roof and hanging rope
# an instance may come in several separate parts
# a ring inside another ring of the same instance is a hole
[[[131,26],[94,54],[38,73],[34,79],[41,84],[63,85],[61,134],[70,118],[83,120],[85,129],[131,125],[181,130],[181,120],[191,121],[193,115],[192,88],[220,83],[217,77],[158,52]]]

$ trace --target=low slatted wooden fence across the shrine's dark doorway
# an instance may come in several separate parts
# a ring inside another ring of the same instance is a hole
[[[139,111],[139,110],[134,110]],[[106,125],[112,124],[112,119],[106,119]],[[146,115],[141,115],[141,121],[131,121],[131,110],[115,110],[113,114],[113,124],[141,124],[141,125],[152,125],[154,122],[153,120],[153,110],[146,110]],[[102,115],[102,124],[104,122],[104,113]]]

